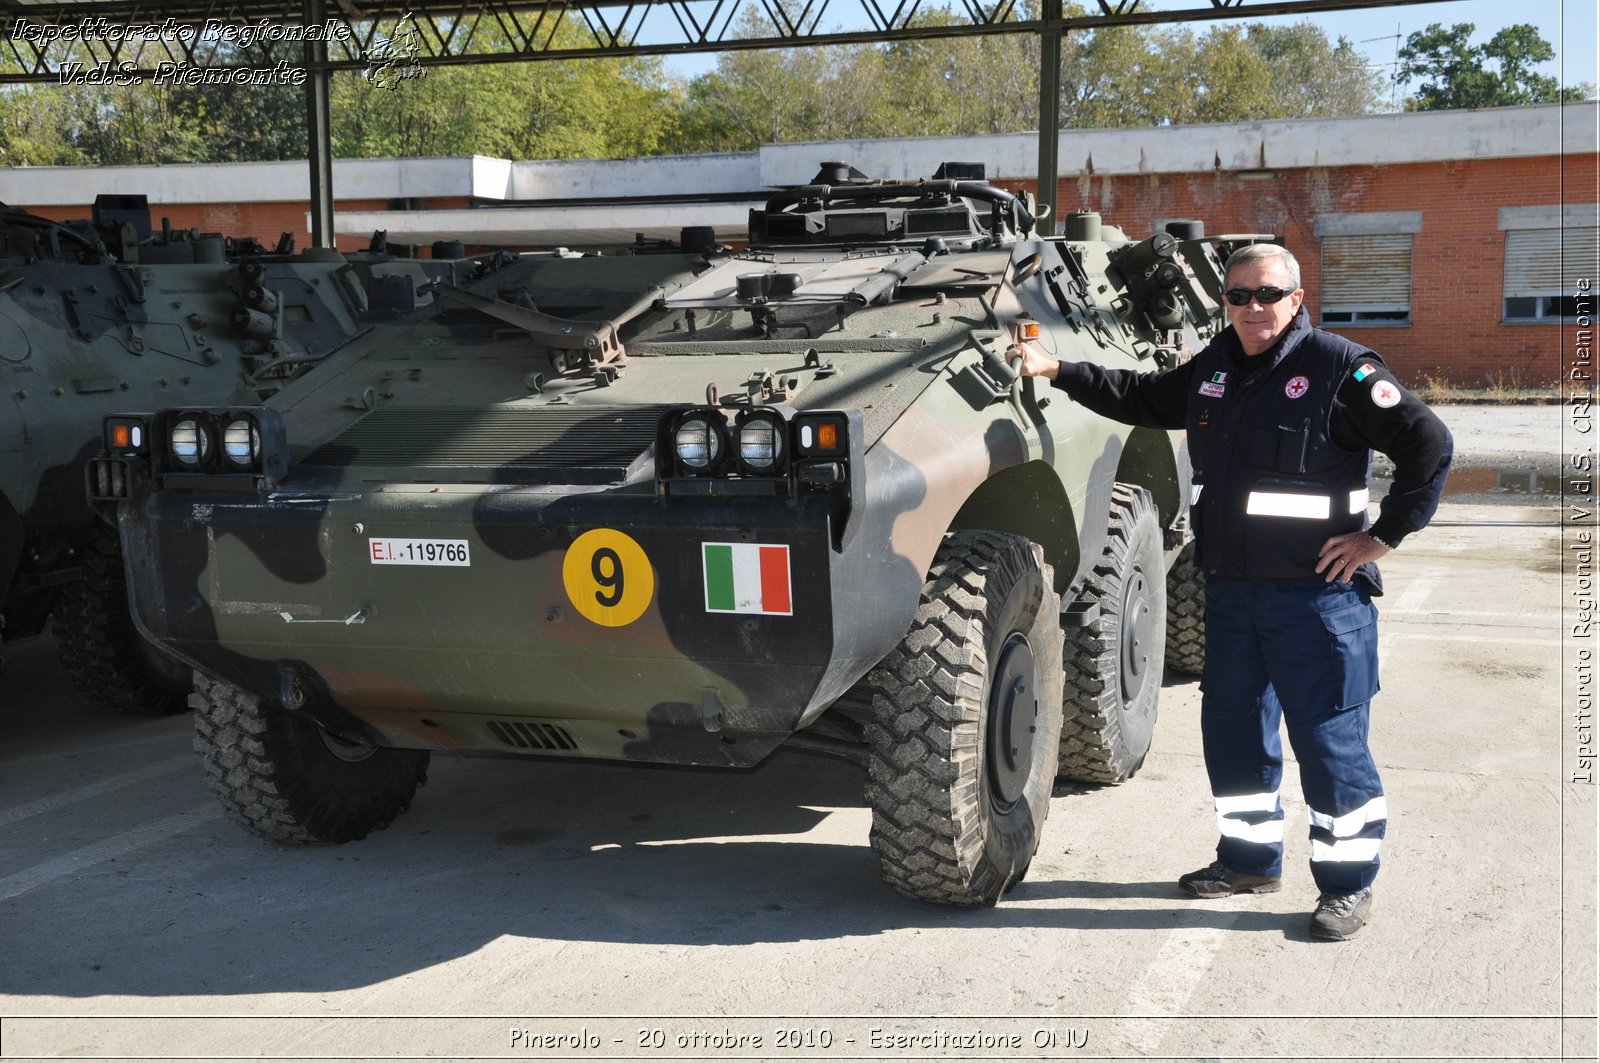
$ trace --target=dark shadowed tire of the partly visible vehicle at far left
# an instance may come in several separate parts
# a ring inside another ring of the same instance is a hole
[[[115,712],[182,712],[192,671],[133,626],[115,528],[94,527],[78,549],[78,568],[83,578],[61,588],[51,612],[61,664],[74,685],[91,703]]]

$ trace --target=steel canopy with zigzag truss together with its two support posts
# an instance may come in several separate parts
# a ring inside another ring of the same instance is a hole
[[[1021,0],[960,0],[958,6],[952,5],[954,18],[931,26],[922,18],[923,0],[178,0],[158,5],[136,0],[0,0],[0,85],[56,82],[67,62],[139,75],[160,75],[171,69],[304,70],[312,242],[330,247],[333,146],[328,88],[333,70],[365,69],[374,77],[379,72],[405,77],[406,70],[448,64],[1037,34],[1038,186],[1054,187],[1061,38],[1069,30],[1437,2],[1170,0],[1152,10],[1144,0],[1096,0],[1098,10],[1067,16],[1062,0],[1038,0],[1037,14],[1021,8]],[[733,37],[738,16],[750,5],[757,5],[771,32]],[[821,30],[824,19],[827,24],[867,29]],[[582,32],[566,30],[579,24]],[[254,46],[242,50],[246,48],[242,35],[229,30],[256,26],[262,32],[251,34]],[[336,32],[312,38],[267,30],[323,26]],[[144,32],[118,32],[126,27],[142,27]],[[51,37],[50,29],[62,32]],[[402,66],[395,69],[395,64]],[[1051,216],[1040,219],[1040,231],[1045,235],[1054,232]]]

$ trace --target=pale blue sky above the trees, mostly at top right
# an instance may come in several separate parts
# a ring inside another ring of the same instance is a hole
[[[1194,10],[1195,0],[1152,0],[1149,10],[1182,8]],[[1565,85],[1581,82],[1595,83],[1595,56],[1600,51],[1595,37],[1595,11],[1600,0],[1451,0],[1450,3],[1411,3],[1405,6],[1366,8],[1360,11],[1331,11],[1302,16],[1280,16],[1267,19],[1245,18],[1259,22],[1302,22],[1320,26],[1328,37],[1347,37],[1360,48],[1368,61],[1384,70],[1392,70],[1395,48],[1410,34],[1426,29],[1430,22],[1451,26],[1454,22],[1472,22],[1477,26],[1474,42],[1483,43],[1496,30],[1517,22],[1533,22],[1539,34],[1555,48],[1555,59],[1541,67],[1541,74],[1558,77]],[[859,11],[848,2],[837,2],[830,8],[830,16],[845,19]],[[829,24],[824,19],[824,24]],[[1203,32],[1211,22],[1194,22],[1197,32]],[[834,22],[834,27],[851,29],[845,22]],[[1398,42],[1397,42],[1398,37]],[[715,64],[712,56],[678,56],[667,59],[667,67],[680,75],[693,77]]]

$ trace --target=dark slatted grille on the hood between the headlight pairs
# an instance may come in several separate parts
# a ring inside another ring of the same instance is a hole
[[[664,410],[376,410],[302,464],[405,469],[414,479],[446,472],[496,483],[610,483],[627,479],[643,459]]]

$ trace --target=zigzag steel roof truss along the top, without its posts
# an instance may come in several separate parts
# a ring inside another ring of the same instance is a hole
[[[331,19],[338,37],[328,42],[318,69],[363,69],[405,32],[406,61],[421,67],[714,53],[744,48],[792,48],[861,42],[963,37],[971,34],[1051,34],[1098,26],[1141,26],[1214,19],[1312,14],[1352,8],[1386,8],[1440,0],[1096,0],[1082,16],[1066,16],[1059,0],[1043,0],[1029,13],[1019,0],[960,0],[950,21],[926,24],[925,0],[0,0],[0,83],[50,82],[64,45],[37,37],[40,26],[150,27],[146,40],[80,35],[78,48],[91,62],[122,64],[150,74],[162,62],[206,67],[304,64],[301,42],[262,40],[248,58],[219,48],[218,34],[189,34],[178,27],[254,27],[322,24]],[[773,27],[760,37],[733,37],[746,8],[754,6]],[[410,16],[410,18],[408,18]],[[19,19],[34,34],[14,32]],[[824,29],[853,26],[859,29]],[[571,32],[571,30],[578,32]],[[555,40],[557,34],[562,40]],[[237,37],[235,37],[237,42]],[[82,56],[77,56],[82,59]]]

